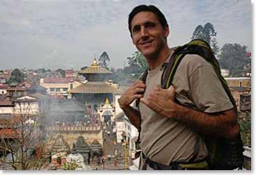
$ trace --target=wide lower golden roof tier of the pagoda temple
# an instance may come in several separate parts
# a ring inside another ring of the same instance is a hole
[[[106,93],[121,93],[119,88],[115,88],[105,82],[87,82],[77,88],[70,90],[70,93],[82,94],[106,94]]]

